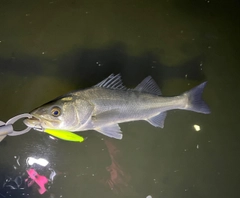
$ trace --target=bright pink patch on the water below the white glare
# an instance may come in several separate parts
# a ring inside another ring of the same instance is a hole
[[[33,182],[29,183],[29,186],[31,186],[34,182],[39,186],[38,192],[40,194],[43,194],[47,191],[45,188],[45,184],[48,183],[48,179],[45,176],[39,175],[34,169],[27,170],[27,173],[29,175],[29,178],[32,179]]]

